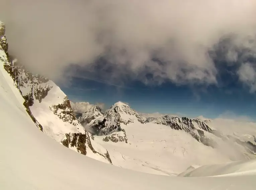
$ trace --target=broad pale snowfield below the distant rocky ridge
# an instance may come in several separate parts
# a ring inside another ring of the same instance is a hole
[[[190,134],[168,126],[139,122],[121,124],[127,142],[105,142],[105,136],[94,136],[105,147],[113,165],[159,175],[176,176],[191,165],[230,162],[228,154],[205,146]]]

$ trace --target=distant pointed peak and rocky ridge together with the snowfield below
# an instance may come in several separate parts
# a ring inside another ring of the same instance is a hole
[[[256,158],[253,139],[223,134],[208,119],[144,118],[117,102],[88,125],[98,131],[94,138],[108,150],[113,165],[137,171],[177,175],[191,165]]]

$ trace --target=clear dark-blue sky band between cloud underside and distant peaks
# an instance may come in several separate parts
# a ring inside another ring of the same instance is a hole
[[[255,119],[256,94],[250,93],[238,79],[231,80],[227,75],[222,83],[222,86],[191,86],[165,82],[153,86],[132,81],[117,86],[107,81],[73,77],[68,87],[61,88],[73,102],[103,102],[105,108],[122,101],[143,113],[203,115],[207,118],[232,113]]]

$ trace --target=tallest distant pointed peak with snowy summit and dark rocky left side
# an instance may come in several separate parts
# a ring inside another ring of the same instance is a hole
[[[108,135],[122,131],[121,124],[134,122],[144,123],[144,118],[128,105],[117,102],[102,117],[95,120],[91,127],[98,132],[98,135]]]

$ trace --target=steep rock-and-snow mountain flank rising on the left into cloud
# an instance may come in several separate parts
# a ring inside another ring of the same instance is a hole
[[[30,73],[9,56],[3,23],[0,23],[0,39],[2,72],[9,74],[35,125],[64,146],[111,163],[107,150],[94,143],[91,134],[77,121],[64,92],[53,81]]]

